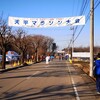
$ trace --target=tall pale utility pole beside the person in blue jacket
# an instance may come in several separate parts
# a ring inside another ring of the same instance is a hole
[[[90,76],[93,76],[94,63],[94,0],[90,0]]]

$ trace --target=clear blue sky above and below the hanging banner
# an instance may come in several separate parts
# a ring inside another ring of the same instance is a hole
[[[25,18],[59,18],[80,16],[81,7],[85,0],[0,0],[0,14],[3,12],[3,18],[8,16]],[[90,9],[90,0],[85,13],[87,16]],[[94,0],[95,2],[97,0]],[[98,0],[100,2],[100,0]],[[94,44],[100,45],[100,5],[95,9],[94,21]],[[79,34],[82,26],[78,26],[75,37]],[[13,29],[16,29],[13,27]],[[70,26],[59,28],[23,28],[28,34],[42,34],[54,38],[59,46],[59,50],[68,47],[72,38],[73,31]],[[90,20],[85,24],[84,29],[75,40],[74,46],[90,45]],[[71,45],[70,45],[71,46]]]

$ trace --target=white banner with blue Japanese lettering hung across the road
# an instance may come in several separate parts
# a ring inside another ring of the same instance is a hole
[[[65,18],[20,18],[9,17],[9,26],[18,27],[32,27],[32,28],[44,28],[44,27],[62,27],[69,25],[84,25],[85,16],[65,17]]]

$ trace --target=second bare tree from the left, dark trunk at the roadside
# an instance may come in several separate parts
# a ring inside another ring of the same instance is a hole
[[[21,64],[23,65],[25,60],[27,59],[27,50],[30,45],[29,38],[23,29],[18,29],[15,31],[14,45],[21,54]]]

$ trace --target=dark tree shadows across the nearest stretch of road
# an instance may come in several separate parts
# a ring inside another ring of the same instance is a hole
[[[77,87],[85,86],[85,84],[77,84]],[[91,85],[91,83],[88,83]],[[68,98],[75,97],[74,92],[69,92],[72,89],[72,86],[66,86],[66,85],[53,85],[43,88],[41,91],[34,93],[34,88],[29,88],[22,91],[13,91],[13,92],[5,92],[3,97],[0,97],[0,100],[51,100],[51,98],[67,98],[67,100],[70,100]],[[29,92],[33,91],[33,93]],[[67,92],[68,91],[68,92]],[[89,92],[89,90],[82,90],[78,91],[81,97],[82,96],[95,96],[95,94],[92,94]],[[21,95],[19,95],[21,94]],[[61,99],[62,100],[62,99]]]

